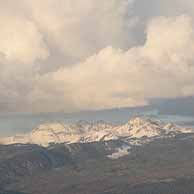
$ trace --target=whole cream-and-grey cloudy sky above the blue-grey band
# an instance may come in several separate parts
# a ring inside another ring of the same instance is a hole
[[[0,0],[0,110],[194,96],[193,0]]]

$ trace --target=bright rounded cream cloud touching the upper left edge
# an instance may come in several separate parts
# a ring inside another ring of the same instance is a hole
[[[10,63],[32,64],[49,55],[43,36],[36,25],[7,6],[0,10],[0,53]]]

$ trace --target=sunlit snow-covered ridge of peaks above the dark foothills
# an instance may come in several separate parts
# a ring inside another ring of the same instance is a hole
[[[124,125],[114,126],[103,121],[88,123],[79,121],[75,124],[46,123],[30,133],[0,138],[0,144],[38,144],[50,143],[86,143],[116,140],[119,138],[164,137],[179,133],[193,133],[192,129],[174,124],[165,124],[149,119],[134,118]]]

